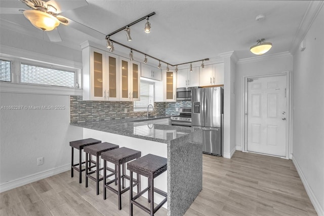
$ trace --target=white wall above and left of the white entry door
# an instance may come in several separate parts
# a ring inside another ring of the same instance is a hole
[[[244,101],[242,100],[244,89],[242,89],[242,79],[246,76],[276,74],[284,71],[293,70],[293,56],[290,53],[281,53],[271,56],[260,56],[246,60],[239,60],[236,65],[235,77],[235,105],[236,105],[236,149],[242,150],[244,147],[244,138],[242,137],[242,109]],[[244,87],[244,86],[243,86]]]

